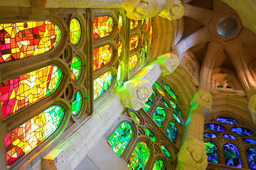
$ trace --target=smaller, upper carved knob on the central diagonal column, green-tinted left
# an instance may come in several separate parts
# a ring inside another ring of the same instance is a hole
[[[178,55],[166,53],[157,57],[161,70],[164,75],[171,74],[178,67]]]

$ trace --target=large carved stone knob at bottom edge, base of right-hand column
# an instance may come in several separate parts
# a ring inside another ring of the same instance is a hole
[[[205,170],[207,167],[206,144],[199,140],[186,140],[178,151],[177,170]]]

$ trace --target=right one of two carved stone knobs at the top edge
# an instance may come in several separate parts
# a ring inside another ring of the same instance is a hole
[[[171,2],[164,6],[164,10],[159,13],[159,16],[173,21],[181,18],[184,12],[184,6],[181,4],[181,1],[171,0]]]

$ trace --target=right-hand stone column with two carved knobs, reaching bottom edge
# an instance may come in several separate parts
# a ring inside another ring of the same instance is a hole
[[[204,113],[210,113],[212,102],[212,95],[208,91],[198,91],[193,97],[183,137],[185,142],[178,152],[178,170],[206,169],[208,162],[203,142]]]

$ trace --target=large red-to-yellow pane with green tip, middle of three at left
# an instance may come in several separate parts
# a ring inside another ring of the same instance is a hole
[[[4,81],[0,85],[2,118],[49,96],[57,89],[63,72],[50,65]]]

